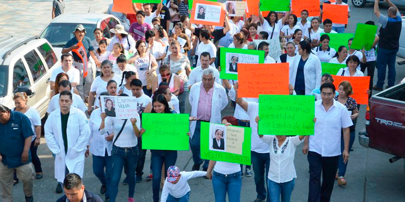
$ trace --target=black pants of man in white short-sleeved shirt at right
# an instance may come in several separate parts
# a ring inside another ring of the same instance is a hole
[[[309,151],[309,193],[308,202],[329,202],[331,200],[339,156],[322,157]],[[320,175],[322,174],[322,185]]]

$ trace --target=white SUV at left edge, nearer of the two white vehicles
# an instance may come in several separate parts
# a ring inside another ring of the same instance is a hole
[[[0,37],[0,104],[12,109],[13,94],[26,92],[28,105],[43,118],[50,101],[49,79],[59,65],[47,39]]]

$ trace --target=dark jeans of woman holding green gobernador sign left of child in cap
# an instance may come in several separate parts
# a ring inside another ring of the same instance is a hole
[[[169,167],[174,166],[177,160],[177,151],[170,150],[150,150],[152,153],[152,191],[153,191],[153,201],[159,201],[159,191],[160,191],[160,178],[161,178],[161,167],[165,164],[165,178]]]

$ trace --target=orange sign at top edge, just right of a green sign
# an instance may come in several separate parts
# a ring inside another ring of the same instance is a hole
[[[301,16],[303,10],[308,11],[308,16],[319,16],[319,0],[292,0],[291,10],[291,14],[295,14],[296,16]]]

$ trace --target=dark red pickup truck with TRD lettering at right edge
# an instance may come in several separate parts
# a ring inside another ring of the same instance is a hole
[[[405,158],[405,83],[371,97],[366,130],[358,133],[362,146],[394,155],[389,162]]]

